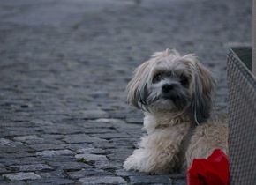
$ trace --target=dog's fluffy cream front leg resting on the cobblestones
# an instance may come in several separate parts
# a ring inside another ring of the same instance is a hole
[[[172,138],[170,130],[158,131],[142,137],[139,149],[125,160],[126,170],[139,170],[148,174],[164,174],[176,166],[182,135]]]

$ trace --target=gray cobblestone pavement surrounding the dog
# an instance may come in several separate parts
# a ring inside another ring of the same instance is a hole
[[[196,53],[227,111],[226,55],[251,1],[1,0],[0,184],[186,184],[126,172],[143,115],[125,85],[154,51]]]

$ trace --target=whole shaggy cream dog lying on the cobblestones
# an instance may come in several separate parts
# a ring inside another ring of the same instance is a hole
[[[145,112],[147,135],[124,168],[165,174],[216,148],[227,153],[227,120],[210,116],[214,89],[215,78],[194,55],[166,49],[142,63],[126,91],[127,102]]]

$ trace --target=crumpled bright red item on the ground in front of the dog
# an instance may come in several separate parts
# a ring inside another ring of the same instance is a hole
[[[219,149],[207,159],[193,159],[187,171],[188,185],[228,185],[229,160]]]

